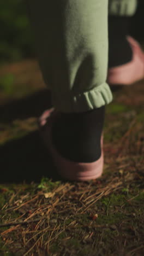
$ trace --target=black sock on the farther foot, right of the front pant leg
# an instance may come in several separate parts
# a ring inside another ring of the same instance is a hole
[[[131,61],[133,52],[127,41],[131,17],[109,16],[109,68]]]

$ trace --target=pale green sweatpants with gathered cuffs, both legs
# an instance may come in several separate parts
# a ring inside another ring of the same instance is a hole
[[[133,15],[136,0],[26,0],[35,48],[53,107],[85,112],[112,101],[106,83],[108,10]]]

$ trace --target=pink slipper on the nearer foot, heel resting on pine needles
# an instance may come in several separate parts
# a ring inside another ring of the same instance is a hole
[[[39,118],[40,135],[52,155],[57,171],[64,179],[71,181],[88,181],[101,176],[103,173],[104,153],[103,136],[101,136],[101,156],[95,162],[73,162],[61,156],[52,145],[52,123],[58,116],[54,108],[46,110]]]

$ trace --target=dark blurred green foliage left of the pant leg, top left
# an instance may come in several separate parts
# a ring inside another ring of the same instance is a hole
[[[1,62],[18,61],[34,55],[28,9],[22,0],[1,0],[0,5]]]

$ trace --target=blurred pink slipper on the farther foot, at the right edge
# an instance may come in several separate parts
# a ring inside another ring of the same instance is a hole
[[[133,50],[133,59],[127,64],[109,69],[107,83],[110,85],[130,85],[144,78],[144,53],[140,44],[130,36],[127,40]]]

